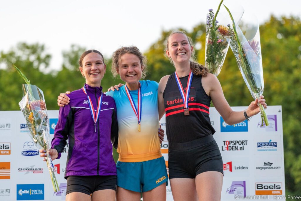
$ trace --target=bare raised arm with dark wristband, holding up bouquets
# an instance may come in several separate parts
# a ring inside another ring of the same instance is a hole
[[[206,77],[202,77],[202,85],[207,93],[211,97],[212,103],[225,122],[229,125],[237,124],[246,120],[244,116],[244,111],[233,111],[225,99],[224,93],[222,91],[222,86],[219,80],[213,74],[208,73]],[[259,97],[259,100],[255,100],[250,103],[246,110],[247,116],[252,117],[259,113],[259,106],[257,102],[263,105],[265,108],[267,104],[263,96]]]

